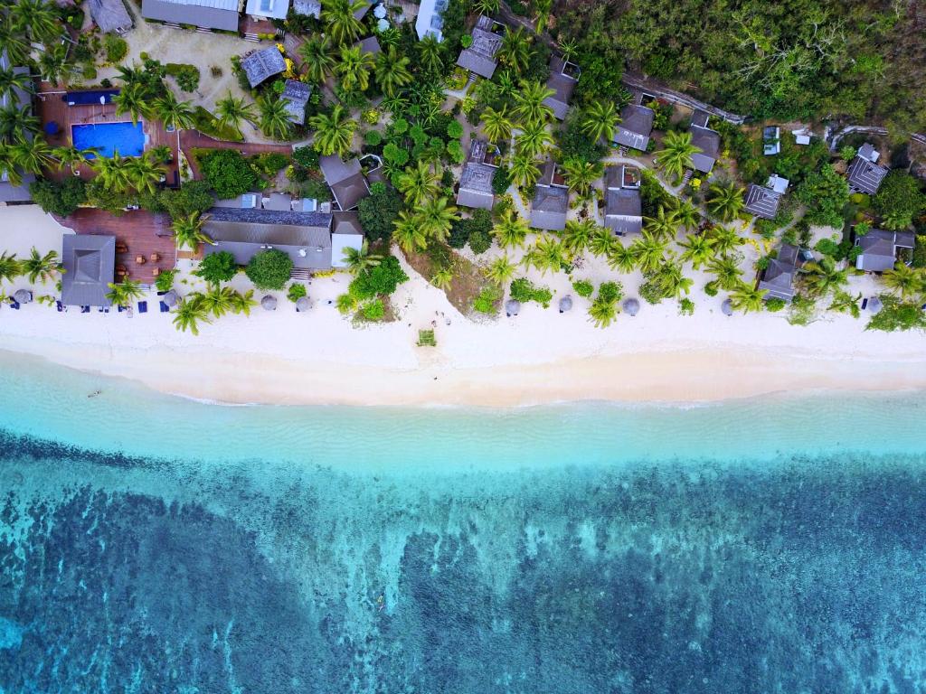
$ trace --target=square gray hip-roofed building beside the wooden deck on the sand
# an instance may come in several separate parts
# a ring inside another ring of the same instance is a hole
[[[108,306],[109,283],[116,268],[116,237],[65,234],[62,240],[61,303]]]

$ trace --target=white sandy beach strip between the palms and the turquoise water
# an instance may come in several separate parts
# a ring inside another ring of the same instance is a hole
[[[34,229],[40,250],[60,249],[65,232],[36,207],[0,210],[0,247]],[[56,245],[58,244],[58,245]],[[0,349],[56,364],[132,378],[156,390],[222,403],[484,405],[510,407],[580,400],[689,403],[808,390],[926,389],[926,337],[866,332],[866,317],[828,314],[808,327],[784,314],[724,316],[722,295],[707,297],[695,278],[694,316],[675,303],[643,304],[610,328],[588,321],[587,302],[563,275],[541,278],[556,291],[549,308],[529,304],[519,316],[475,322],[406,267],[411,281],[393,297],[396,322],[355,327],[332,302],[349,277],[314,279],[312,308],[295,312],[280,293],[275,312],[224,316],[199,336],[178,332],[168,314],[59,314],[29,304],[0,309]],[[587,263],[578,276],[614,273]],[[243,279],[243,278],[242,278]],[[621,278],[634,295],[639,278]],[[236,282],[239,279],[235,280]],[[181,293],[196,289],[192,279]],[[871,291],[853,278],[854,291]],[[28,286],[24,278],[4,290]],[[53,288],[35,288],[53,293]],[[557,311],[572,293],[575,307]],[[437,347],[418,347],[432,328]]]

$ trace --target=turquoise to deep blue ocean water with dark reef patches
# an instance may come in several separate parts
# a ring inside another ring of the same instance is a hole
[[[223,407],[0,353],[0,692],[926,691],[924,415]]]

